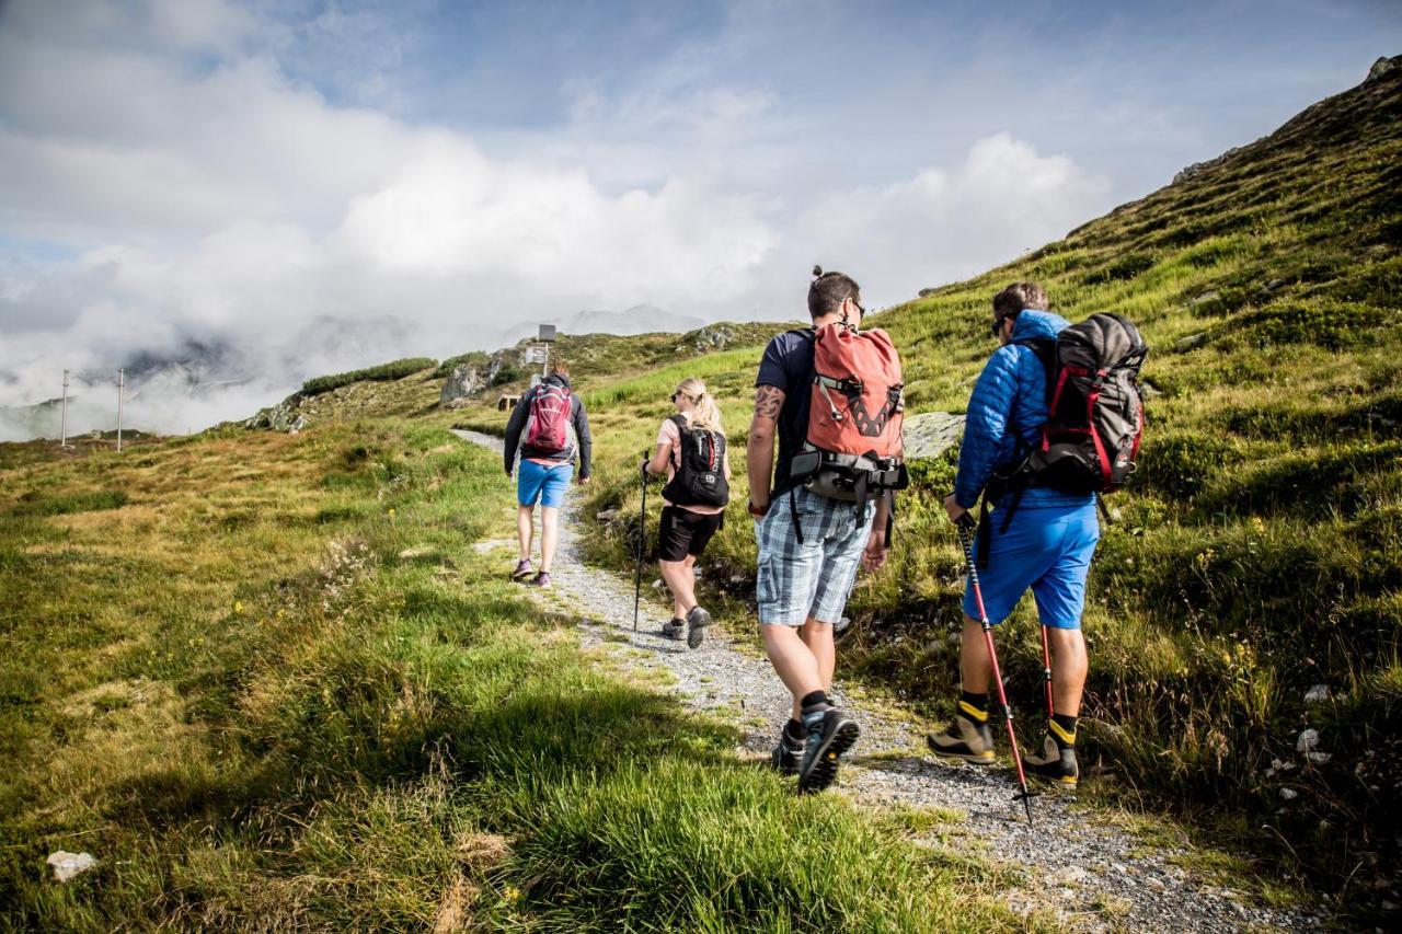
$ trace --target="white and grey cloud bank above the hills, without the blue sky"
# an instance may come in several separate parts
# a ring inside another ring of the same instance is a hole
[[[57,395],[67,367],[74,431],[115,425],[101,400],[119,366],[140,370],[128,424],[182,432],[308,376],[488,349],[582,309],[791,318],[815,261],[890,304],[1106,206],[1103,180],[1007,133],[960,164],[816,192],[747,188],[681,135],[674,170],[655,156],[628,184],[550,130],[489,150],[328,102],[244,7],[137,6],[0,7],[0,408]],[[781,108],[726,100],[746,105],[695,104],[712,146]],[[603,139],[610,112],[572,119],[571,140]]]

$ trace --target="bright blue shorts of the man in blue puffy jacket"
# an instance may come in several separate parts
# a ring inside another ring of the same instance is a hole
[[[1022,595],[1032,588],[1042,625],[1081,628],[1085,610],[1085,575],[1101,540],[1095,501],[1082,506],[1021,506],[1002,533],[1002,516],[994,509],[988,541],[988,567],[979,571],[983,606],[997,625],[1012,616]],[[979,618],[973,585],[965,585],[965,616]]]

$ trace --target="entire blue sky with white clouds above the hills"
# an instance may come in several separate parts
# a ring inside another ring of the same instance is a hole
[[[1391,0],[1150,6],[0,0],[0,407],[199,341],[252,377],[151,400],[199,428],[585,309],[794,317],[813,262],[892,304],[1402,52]]]

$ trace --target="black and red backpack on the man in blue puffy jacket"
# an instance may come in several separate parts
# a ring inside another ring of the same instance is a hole
[[[1056,339],[1018,341],[1042,360],[1047,373],[1047,421],[1030,450],[1018,432],[1019,457],[997,471],[984,492],[980,527],[980,564],[987,564],[990,501],[1007,491],[1014,498],[1002,517],[1008,530],[1028,487],[1049,487],[1067,494],[1101,494],[1119,489],[1134,473],[1144,435],[1144,395],[1138,374],[1148,345],[1127,318],[1092,314],[1073,324]]]

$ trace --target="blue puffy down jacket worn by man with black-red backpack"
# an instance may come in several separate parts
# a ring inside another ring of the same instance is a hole
[[[1012,325],[1014,341],[1054,338],[1067,320],[1050,311],[1028,309]],[[955,477],[955,501],[973,509],[993,471],[1012,466],[1018,456],[1016,435],[1028,446],[1042,440],[1047,419],[1047,373],[1032,348],[1008,344],[988,358],[969,397],[963,443],[959,446],[959,474]],[[1007,506],[1005,494],[998,506]],[[1029,487],[1018,506],[1078,506],[1094,502],[1094,495],[1073,495]]]

